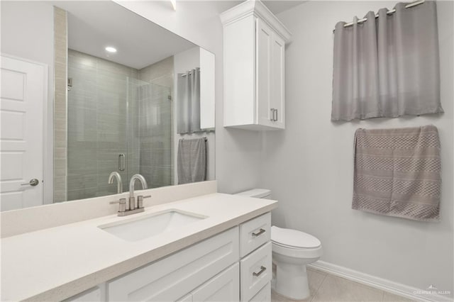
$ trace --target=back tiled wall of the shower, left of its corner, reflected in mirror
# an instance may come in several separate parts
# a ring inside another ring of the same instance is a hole
[[[116,194],[116,184],[107,183],[114,171],[128,191],[127,170],[118,170],[118,155],[128,151],[127,85],[138,71],[75,50],[68,55],[67,199]]]

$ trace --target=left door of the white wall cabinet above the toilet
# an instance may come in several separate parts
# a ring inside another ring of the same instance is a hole
[[[256,31],[256,82],[257,91],[255,96],[256,123],[259,125],[272,126],[272,107],[271,107],[271,46],[272,30],[265,21],[257,19]]]

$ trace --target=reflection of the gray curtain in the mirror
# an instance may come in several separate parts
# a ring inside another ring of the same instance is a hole
[[[194,133],[200,129],[200,69],[178,74],[177,133]]]

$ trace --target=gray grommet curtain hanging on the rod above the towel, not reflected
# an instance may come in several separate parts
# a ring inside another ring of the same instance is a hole
[[[332,121],[443,112],[435,1],[405,5],[336,24]]]

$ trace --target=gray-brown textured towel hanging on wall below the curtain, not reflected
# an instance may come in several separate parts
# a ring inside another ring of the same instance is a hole
[[[439,220],[440,194],[440,140],[435,126],[356,130],[352,208]]]

